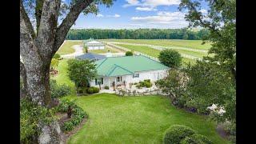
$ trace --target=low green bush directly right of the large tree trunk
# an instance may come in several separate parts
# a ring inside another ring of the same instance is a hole
[[[61,98],[71,94],[71,87],[66,84],[58,85],[56,80],[50,79],[50,95],[51,98]]]

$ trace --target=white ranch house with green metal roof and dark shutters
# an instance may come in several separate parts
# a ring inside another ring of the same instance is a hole
[[[95,62],[98,77],[90,81],[90,86],[129,86],[130,83],[150,79],[155,82],[164,78],[170,69],[162,63],[142,55],[110,57]]]

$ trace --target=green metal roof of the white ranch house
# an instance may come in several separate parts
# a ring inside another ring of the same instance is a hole
[[[164,70],[169,67],[142,55],[110,57],[95,62],[96,70],[100,76],[130,75],[139,71]]]

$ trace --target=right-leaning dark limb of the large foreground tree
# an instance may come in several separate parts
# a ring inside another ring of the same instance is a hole
[[[70,13],[66,15],[66,18],[62,21],[62,24],[58,26],[53,54],[64,42],[66,34],[70,30],[70,27],[74,25],[74,22],[77,20],[79,14],[81,14],[82,10],[85,10],[87,6],[90,6],[91,2],[93,2],[93,0],[78,0],[78,2],[71,7]]]

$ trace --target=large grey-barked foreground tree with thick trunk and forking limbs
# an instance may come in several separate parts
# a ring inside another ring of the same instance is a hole
[[[99,4],[110,6],[112,0],[20,0],[20,74],[33,102],[50,106],[51,59],[79,14],[97,13]],[[42,124],[38,142],[60,143],[58,128],[56,122]]]

